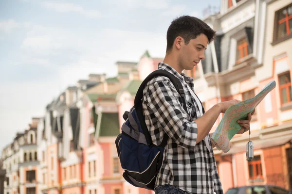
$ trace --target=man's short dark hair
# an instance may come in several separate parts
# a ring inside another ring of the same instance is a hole
[[[208,44],[215,37],[215,31],[201,19],[193,16],[180,16],[174,19],[168,27],[166,34],[166,52],[172,49],[176,37],[181,36],[188,44],[191,39],[195,39],[201,33],[208,38]]]

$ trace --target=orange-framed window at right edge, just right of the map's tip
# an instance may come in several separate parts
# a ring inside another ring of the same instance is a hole
[[[279,75],[279,89],[281,104],[292,101],[291,77],[290,72]]]

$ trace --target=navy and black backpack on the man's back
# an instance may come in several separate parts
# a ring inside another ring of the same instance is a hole
[[[183,109],[188,113],[182,82],[166,70],[158,69],[150,73],[141,83],[134,99],[134,106],[123,114],[125,123],[122,125],[122,132],[115,140],[119,160],[124,169],[123,177],[133,186],[148,190],[154,190],[156,177],[163,161],[164,147],[168,140],[168,135],[165,133],[161,145],[152,144],[143,113],[143,90],[147,82],[157,76],[169,78],[183,99]]]

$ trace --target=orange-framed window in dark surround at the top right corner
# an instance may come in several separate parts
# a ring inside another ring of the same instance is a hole
[[[292,4],[275,13],[274,40],[292,34]]]

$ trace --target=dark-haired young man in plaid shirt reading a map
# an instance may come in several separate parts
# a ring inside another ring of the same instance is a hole
[[[205,58],[204,50],[214,36],[215,31],[192,16],[178,17],[167,30],[166,55],[158,68],[183,83],[188,113],[168,78],[156,77],[144,89],[143,110],[153,144],[159,146],[164,133],[169,136],[156,178],[156,194],[223,194],[209,132],[219,114],[239,101],[221,102],[203,113],[193,79],[182,73]],[[248,120],[239,123],[242,129],[238,133],[249,129],[251,116],[249,113]]]

